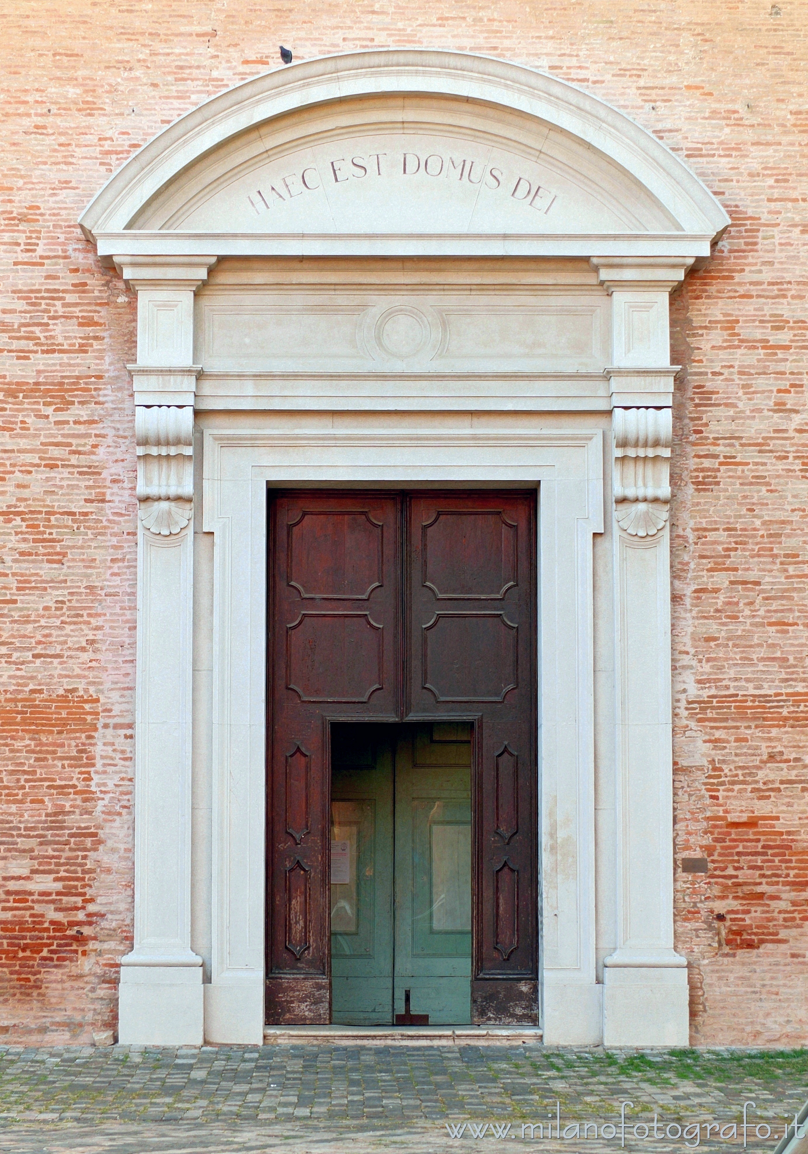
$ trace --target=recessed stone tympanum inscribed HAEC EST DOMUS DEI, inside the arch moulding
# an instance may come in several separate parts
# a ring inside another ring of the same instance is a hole
[[[135,228],[681,232],[624,168],[534,117],[457,97],[351,97],[225,141]]]

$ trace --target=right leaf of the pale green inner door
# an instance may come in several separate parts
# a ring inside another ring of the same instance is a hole
[[[471,742],[407,728],[396,749],[396,1013],[471,1021]]]

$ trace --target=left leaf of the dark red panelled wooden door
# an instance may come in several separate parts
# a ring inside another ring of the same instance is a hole
[[[270,1022],[330,1020],[328,719],[401,715],[401,500],[292,493],[270,510]]]

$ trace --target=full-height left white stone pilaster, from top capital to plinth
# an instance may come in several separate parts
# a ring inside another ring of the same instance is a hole
[[[202,959],[190,949],[190,522],[199,372],[192,360],[194,292],[212,258],[115,263],[137,292],[137,364],[130,368],[139,501],[135,936],[121,959],[119,1039],[199,1046]]]

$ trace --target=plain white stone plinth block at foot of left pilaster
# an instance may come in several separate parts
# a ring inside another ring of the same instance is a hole
[[[124,1046],[202,1046],[201,966],[122,966],[118,1040]]]

